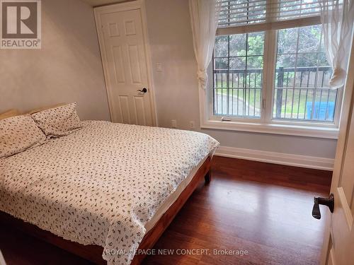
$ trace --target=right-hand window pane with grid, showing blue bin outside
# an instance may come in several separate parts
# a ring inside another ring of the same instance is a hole
[[[273,119],[333,122],[331,71],[321,25],[278,30]]]

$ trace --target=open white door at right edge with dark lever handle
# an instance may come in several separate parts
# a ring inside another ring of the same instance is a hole
[[[329,265],[354,264],[354,47],[348,73],[331,184],[334,211],[327,220],[321,259]]]

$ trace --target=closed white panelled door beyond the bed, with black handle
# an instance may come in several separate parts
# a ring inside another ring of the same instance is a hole
[[[113,122],[152,126],[141,9],[115,9],[105,6],[96,11],[111,118]]]

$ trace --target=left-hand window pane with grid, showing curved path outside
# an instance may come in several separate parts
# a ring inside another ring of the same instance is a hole
[[[214,52],[214,114],[261,117],[264,33],[219,36]]]

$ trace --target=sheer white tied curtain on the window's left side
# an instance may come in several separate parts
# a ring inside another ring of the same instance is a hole
[[[207,66],[212,59],[220,7],[219,0],[189,0],[198,81],[202,89],[207,86]]]

